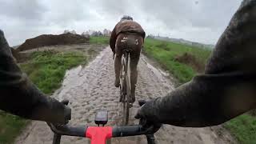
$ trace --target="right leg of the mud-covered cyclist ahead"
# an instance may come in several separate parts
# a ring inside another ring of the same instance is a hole
[[[135,102],[135,88],[138,80],[137,65],[142,50],[143,38],[138,35],[133,35],[132,37],[134,37],[134,43],[132,46],[133,51],[130,54],[130,94],[132,102]]]

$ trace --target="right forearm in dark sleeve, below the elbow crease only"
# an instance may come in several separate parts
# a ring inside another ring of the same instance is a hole
[[[200,75],[142,106],[142,117],[174,126],[214,126],[255,108],[256,74]]]

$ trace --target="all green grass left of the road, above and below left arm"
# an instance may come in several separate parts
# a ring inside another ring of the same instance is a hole
[[[28,62],[20,64],[20,67],[40,90],[52,94],[62,85],[66,70],[86,62],[86,56],[81,52],[39,51],[31,54]],[[0,143],[13,143],[28,122],[1,111]]]

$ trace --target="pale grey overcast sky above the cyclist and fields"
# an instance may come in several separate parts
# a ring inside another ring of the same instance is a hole
[[[242,0],[0,0],[10,46],[64,30],[112,30],[124,14],[146,34],[215,44]]]

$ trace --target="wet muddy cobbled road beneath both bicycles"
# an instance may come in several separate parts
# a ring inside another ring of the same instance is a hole
[[[138,86],[136,101],[162,97],[171,90],[174,84],[170,82],[161,70],[154,68],[142,55],[138,64]],[[121,123],[122,105],[118,102],[119,89],[114,87],[114,61],[110,48],[102,50],[94,61],[86,67],[78,66],[66,73],[62,88],[54,94],[55,98],[70,100],[72,109],[71,125],[94,125],[94,114],[97,110],[109,111],[108,125],[114,126]],[[138,123],[134,114],[138,109],[138,102],[130,110],[130,124]],[[180,128],[176,126],[162,126],[155,134],[158,143],[234,143],[230,134],[219,134],[214,128]],[[16,143],[50,144],[53,134],[45,122],[31,122],[23,134],[17,138]],[[62,137],[62,144],[90,143],[85,138]],[[111,143],[146,143],[144,136],[130,138],[114,138]]]

